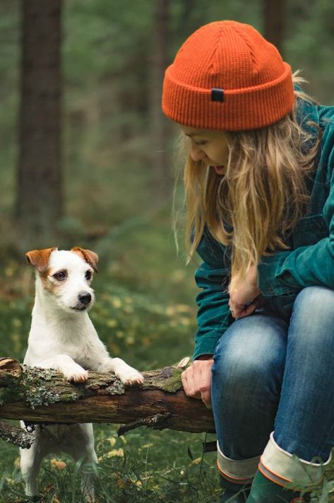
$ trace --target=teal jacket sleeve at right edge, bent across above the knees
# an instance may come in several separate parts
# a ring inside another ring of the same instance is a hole
[[[304,240],[294,250],[261,258],[258,287],[264,296],[295,294],[316,285],[334,289],[334,124],[330,126],[318,168],[319,173],[326,174],[323,186],[328,187],[323,213],[297,224],[296,236],[304,233]],[[309,245],[312,239],[314,242]]]

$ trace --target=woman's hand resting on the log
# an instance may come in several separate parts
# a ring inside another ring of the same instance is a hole
[[[211,408],[211,354],[202,354],[191,366],[181,374],[184,393],[193,398],[203,400],[206,407]]]

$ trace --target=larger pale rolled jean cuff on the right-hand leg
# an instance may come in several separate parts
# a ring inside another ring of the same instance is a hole
[[[272,432],[258,469],[262,475],[278,485],[286,486],[288,482],[291,489],[306,489],[321,482],[330,459],[331,454],[326,463],[311,463],[297,458],[276,444]]]

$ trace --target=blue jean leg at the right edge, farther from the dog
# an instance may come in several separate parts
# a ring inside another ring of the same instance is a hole
[[[275,440],[306,461],[334,445],[334,291],[307,287],[294,301]]]

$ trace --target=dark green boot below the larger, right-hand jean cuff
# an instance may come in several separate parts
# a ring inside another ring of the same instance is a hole
[[[260,471],[256,472],[251,492],[246,499],[246,503],[309,503],[309,501],[309,494],[304,495],[299,491],[275,484]]]

